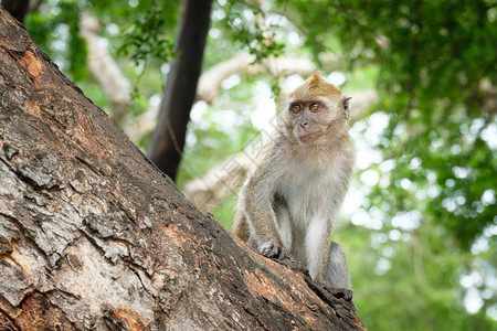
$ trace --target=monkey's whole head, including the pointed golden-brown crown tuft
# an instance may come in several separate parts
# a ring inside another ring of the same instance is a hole
[[[319,72],[288,96],[282,111],[284,134],[303,145],[320,145],[347,129],[349,99]]]

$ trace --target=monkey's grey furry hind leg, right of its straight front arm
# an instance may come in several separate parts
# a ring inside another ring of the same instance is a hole
[[[351,288],[350,271],[343,247],[337,242],[331,242],[329,248],[328,269],[326,282],[334,288]]]

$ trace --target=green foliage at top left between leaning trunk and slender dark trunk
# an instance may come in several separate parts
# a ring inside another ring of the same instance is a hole
[[[134,83],[131,99],[133,115],[142,111],[142,96],[154,93],[142,89],[148,82],[140,79],[148,66],[157,66],[175,58],[175,31],[179,13],[178,0],[140,0],[128,3],[119,0],[49,0],[40,11],[28,15],[25,26],[34,41],[53,58],[70,77],[87,86],[88,96],[104,107],[105,97],[88,82],[87,47],[80,36],[78,18],[88,11],[103,25],[101,34],[110,42],[109,51],[116,56],[131,60],[135,68],[125,68]],[[109,33],[106,28],[115,26],[118,33]],[[117,28],[118,26],[118,28]],[[138,74],[137,74],[138,72]],[[160,71],[159,71],[160,72]],[[163,77],[160,77],[163,78]],[[141,105],[141,106],[140,106]]]

